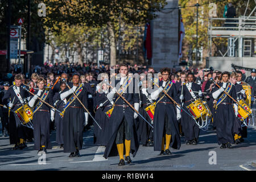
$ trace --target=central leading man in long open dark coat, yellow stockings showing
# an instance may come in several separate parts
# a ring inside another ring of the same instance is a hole
[[[139,110],[139,88],[138,82],[135,82],[134,78],[128,76],[128,65],[121,64],[119,67],[119,73],[121,73],[121,79],[115,80],[115,88],[108,93],[107,97],[109,101],[113,101],[115,96],[115,104],[112,115],[109,119],[110,123],[110,139],[106,146],[104,157],[107,159],[110,155],[117,155],[116,148],[119,154],[119,166],[125,165],[125,160],[128,164],[131,163],[130,152],[135,156],[138,148],[139,142],[137,137],[137,131],[134,125],[134,119],[138,117],[138,114],[135,113],[133,109],[122,99],[118,99],[117,88],[120,86],[123,88],[123,85],[130,85],[125,89],[125,92],[122,93],[122,96],[131,104],[134,105],[134,108]],[[118,99],[118,100],[117,100]],[[117,144],[115,147],[114,145]],[[125,143],[125,160],[123,159],[123,149]]]

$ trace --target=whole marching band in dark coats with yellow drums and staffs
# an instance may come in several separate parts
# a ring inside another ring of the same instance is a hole
[[[32,73],[28,85],[22,74],[16,75],[14,84],[5,82],[0,93],[3,136],[9,134],[13,150],[22,150],[34,138],[34,150],[47,153],[54,122],[56,143],[73,158],[81,156],[82,134],[93,122],[94,144],[105,146],[106,159],[119,155],[118,165],[123,166],[125,160],[132,163],[130,154],[137,154],[139,144],[172,155],[171,148],[181,147],[181,137],[185,144],[196,145],[200,130],[212,125],[220,148],[232,148],[254,125],[254,90],[247,82],[255,76],[243,82],[240,71],[209,73],[204,82],[183,71],[174,82],[169,68],[157,76],[149,68],[152,77],[135,77],[121,64],[118,72],[102,73],[99,82],[90,83],[85,81],[91,79],[89,74],[74,73],[71,79],[67,73],[57,78],[48,74],[47,82]],[[255,69],[251,73],[255,75]]]

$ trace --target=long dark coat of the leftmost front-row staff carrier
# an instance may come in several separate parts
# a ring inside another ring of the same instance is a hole
[[[38,90],[35,90],[35,94],[38,93]],[[44,94],[44,90],[40,94],[40,98],[42,98]],[[52,90],[49,91],[46,101],[49,105],[53,106],[52,100]],[[32,97],[31,97],[32,99]],[[36,105],[40,102],[39,99],[35,101],[35,104],[32,108],[35,109]],[[49,125],[51,122],[50,115],[51,107],[46,104],[42,104],[39,109],[33,113],[33,126],[34,126],[34,150],[40,150],[40,146],[46,146],[47,149],[51,149],[50,142],[50,133],[49,133]]]

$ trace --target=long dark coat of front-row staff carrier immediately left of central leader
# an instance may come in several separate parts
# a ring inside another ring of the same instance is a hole
[[[69,90],[68,88],[63,90],[63,93]],[[73,94],[67,97],[72,97]],[[57,100],[60,99],[60,94],[56,96]],[[82,89],[78,98],[88,109],[87,93],[85,89]],[[71,107],[70,107],[71,106]],[[64,152],[75,152],[76,147],[78,150],[82,149],[82,131],[84,129],[85,115],[84,108],[80,102],[75,98],[72,104],[65,110],[63,117],[63,134],[64,134]],[[78,108],[77,108],[78,107]]]

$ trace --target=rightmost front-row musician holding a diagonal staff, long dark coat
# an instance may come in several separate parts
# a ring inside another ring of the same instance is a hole
[[[220,148],[232,148],[231,143],[234,143],[233,137],[233,125],[235,117],[238,115],[238,107],[233,104],[233,100],[229,97],[236,99],[236,88],[229,83],[229,72],[223,72],[221,75],[222,83],[218,84],[212,91],[212,97],[214,98],[215,112],[214,123],[216,126],[216,133],[218,138],[218,144],[221,144]],[[229,94],[227,96],[224,90]],[[234,108],[233,108],[234,106]],[[235,110],[235,113],[234,113]]]

